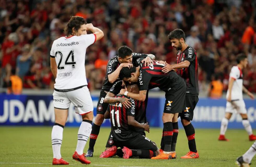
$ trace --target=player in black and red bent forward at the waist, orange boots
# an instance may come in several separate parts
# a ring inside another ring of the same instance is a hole
[[[178,113],[185,110],[185,93],[186,84],[184,80],[175,72],[170,71],[168,74],[162,72],[164,64],[160,64],[156,61],[150,66],[145,66],[142,59],[137,59],[139,64],[136,68],[123,68],[120,71],[119,77],[126,82],[137,82],[139,84],[139,93],[123,92],[120,94],[127,95],[133,99],[144,101],[146,99],[147,90],[151,86],[159,87],[165,91],[165,107],[163,113],[163,136],[164,136],[164,150],[161,154],[152,159],[168,159],[176,158],[176,152],[171,152],[171,146],[176,145],[172,143],[173,126],[172,122],[177,122]],[[176,138],[177,140],[177,138]]]

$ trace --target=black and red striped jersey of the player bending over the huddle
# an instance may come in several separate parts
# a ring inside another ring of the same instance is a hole
[[[140,91],[159,87],[162,91],[167,92],[179,84],[181,77],[175,71],[172,70],[167,74],[162,72],[162,68],[165,66],[164,64],[153,61],[153,64],[150,66],[145,66],[144,63],[141,63],[141,60],[141,58],[137,59],[137,63],[140,66],[138,78]]]

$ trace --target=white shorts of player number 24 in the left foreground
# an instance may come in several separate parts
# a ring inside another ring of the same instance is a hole
[[[57,109],[68,109],[74,104],[75,112],[83,115],[93,111],[92,99],[87,86],[68,92],[53,92],[53,105]]]

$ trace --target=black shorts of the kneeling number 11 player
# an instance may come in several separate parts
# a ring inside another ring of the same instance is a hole
[[[134,138],[131,138],[127,141],[117,141],[113,139],[113,145],[117,147],[128,147],[130,149],[139,149],[139,150],[158,150],[157,146],[153,141],[142,136],[141,134],[137,133]]]

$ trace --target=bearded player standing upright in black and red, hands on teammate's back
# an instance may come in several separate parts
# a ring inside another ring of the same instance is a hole
[[[177,53],[177,64],[168,64],[165,62],[165,67],[162,68],[164,73],[176,69],[179,74],[186,82],[186,110],[184,110],[179,116],[181,117],[182,125],[185,129],[185,133],[188,138],[189,152],[181,157],[184,159],[188,158],[199,158],[199,154],[196,150],[195,142],[195,129],[190,121],[193,119],[194,109],[198,102],[198,61],[196,50],[187,45],[185,41],[185,33],[181,29],[173,30],[169,35],[172,46],[178,50]],[[178,127],[178,123],[176,125]]]

